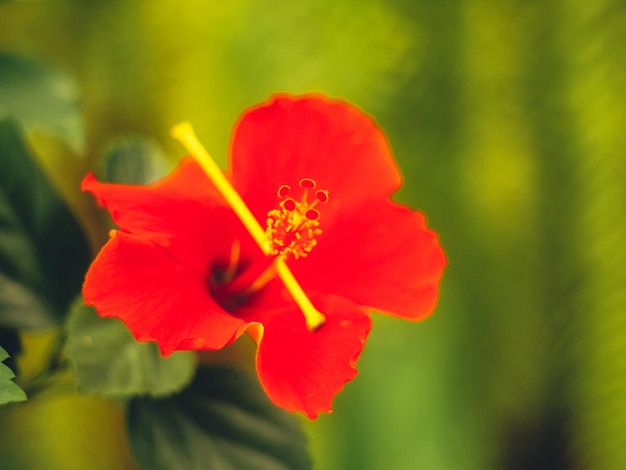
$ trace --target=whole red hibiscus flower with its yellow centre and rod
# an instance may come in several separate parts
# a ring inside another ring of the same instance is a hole
[[[277,95],[237,123],[224,178],[177,132],[198,160],[165,179],[85,178],[119,226],[87,273],[85,302],[164,355],[247,331],[277,405],[329,412],[357,374],[368,313],[423,319],[446,263],[424,216],[391,200],[401,175],[385,135],[348,103]]]

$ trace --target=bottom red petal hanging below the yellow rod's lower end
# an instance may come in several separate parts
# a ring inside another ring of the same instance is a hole
[[[369,317],[345,299],[315,302],[326,314],[324,325],[311,333],[299,311],[272,315],[263,324],[257,355],[259,378],[272,401],[311,419],[330,412],[335,395],[356,377],[371,328]]]

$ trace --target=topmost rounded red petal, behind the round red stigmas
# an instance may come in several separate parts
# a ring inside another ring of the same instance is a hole
[[[359,108],[322,95],[275,95],[248,110],[231,142],[233,185],[264,225],[281,185],[301,178],[349,208],[402,180],[383,131]]]

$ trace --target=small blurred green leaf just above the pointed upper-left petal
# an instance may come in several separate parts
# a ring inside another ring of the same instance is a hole
[[[107,148],[99,179],[120,184],[149,184],[165,176],[169,163],[154,139],[121,137]]]

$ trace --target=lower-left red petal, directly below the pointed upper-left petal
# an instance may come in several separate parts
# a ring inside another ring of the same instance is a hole
[[[139,341],[156,341],[163,355],[219,349],[246,322],[222,310],[204,274],[180,264],[150,240],[116,232],[87,272],[85,303],[120,318]]]

